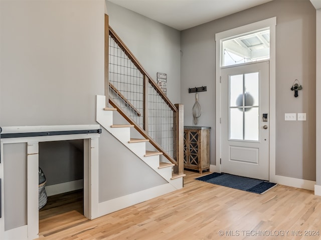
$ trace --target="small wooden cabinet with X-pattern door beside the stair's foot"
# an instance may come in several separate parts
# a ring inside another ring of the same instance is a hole
[[[184,168],[210,169],[210,128],[184,126]]]

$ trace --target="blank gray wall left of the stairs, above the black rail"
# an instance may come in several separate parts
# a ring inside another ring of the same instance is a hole
[[[1,1],[0,124],[95,123],[104,1]]]

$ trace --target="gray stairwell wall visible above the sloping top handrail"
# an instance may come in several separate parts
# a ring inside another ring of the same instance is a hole
[[[167,73],[167,95],[181,103],[180,31],[106,1],[109,25],[128,46],[148,74]]]

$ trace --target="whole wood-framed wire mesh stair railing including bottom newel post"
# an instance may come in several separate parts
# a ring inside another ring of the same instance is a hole
[[[109,26],[109,103],[183,174],[183,105],[173,104]]]

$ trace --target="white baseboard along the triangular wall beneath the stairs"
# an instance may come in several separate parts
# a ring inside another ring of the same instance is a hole
[[[149,200],[157,196],[164,195],[175,190],[176,188],[172,184],[166,183],[101,202],[99,203],[99,215],[93,216],[93,218],[106,215],[108,213],[123,209],[125,207],[137,204],[139,202]]]

